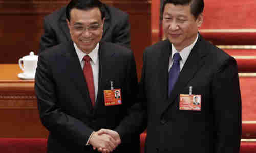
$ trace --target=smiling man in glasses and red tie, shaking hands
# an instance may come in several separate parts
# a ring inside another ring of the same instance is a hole
[[[50,132],[48,152],[139,152],[139,134],[119,146],[120,139],[98,134],[118,126],[138,88],[131,50],[101,41],[102,7],[98,0],[72,0],[66,10],[72,41],[39,55],[35,92],[41,122]],[[112,88],[121,90],[121,105],[106,106],[103,92]]]

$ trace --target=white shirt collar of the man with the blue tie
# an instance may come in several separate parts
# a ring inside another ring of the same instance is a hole
[[[174,54],[179,52],[180,56],[181,56],[181,62],[185,63],[187,60],[188,55],[190,54],[192,48],[195,46],[196,42],[198,40],[198,34],[197,34],[197,38],[195,39],[195,41],[190,44],[189,46],[187,46],[186,48],[182,49],[180,52],[178,50],[176,50],[176,48],[174,47],[174,45],[172,44],[172,58],[171,60],[173,60]]]

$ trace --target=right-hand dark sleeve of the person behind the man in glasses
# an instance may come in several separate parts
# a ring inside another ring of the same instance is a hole
[[[129,16],[126,14],[115,28],[113,43],[131,48],[130,29]]]

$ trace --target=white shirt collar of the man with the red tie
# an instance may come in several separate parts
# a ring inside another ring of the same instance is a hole
[[[83,57],[86,56],[87,54],[82,52],[82,50],[80,50],[77,45],[74,42],[74,47],[76,50],[76,54],[79,58],[79,61],[82,62]],[[99,43],[97,43],[96,47],[92,50],[91,53],[89,53],[88,55],[90,56],[90,58],[92,59],[93,64],[95,65],[98,62],[98,57],[99,57]]]

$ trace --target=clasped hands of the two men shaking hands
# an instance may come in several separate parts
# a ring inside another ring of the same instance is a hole
[[[89,140],[89,144],[93,146],[93,149],[98,149],[102,153],[114,151],[120,143],[119,134],[109,129],[100,129],[94,132]]]

